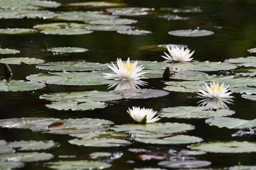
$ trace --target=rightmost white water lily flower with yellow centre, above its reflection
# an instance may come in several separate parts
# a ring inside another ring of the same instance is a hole
[[[204,89],[206,91],[200,90],[201,93],[198,93],[199,95],[202,95],[204,98],[218,98],[218,99],[225,99],[225,98],[233,98],[233,96],[230,96],[229,94],[233,93],[232,91],[229,91],[229,85],[225,86],[224,83],[219,86],[219,82],[212,84],[210,83],[210,87],[205,83]]]

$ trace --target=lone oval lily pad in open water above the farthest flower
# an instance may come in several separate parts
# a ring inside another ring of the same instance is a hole
[[[181,37],[200,37],[200,36],[212,35],[212,34],[214,34],[214,32],[196,29],[196,30],[169,31],[168,34],[174,35],[174,36],[181,36]]]

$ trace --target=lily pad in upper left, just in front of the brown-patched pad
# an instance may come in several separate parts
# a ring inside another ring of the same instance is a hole
[[[47,29],[42,30],[43,34],[53,34],[53,35],[80,35],[80,34],[90,34],[93,31],[86,29],[76,29],[76,28],[62,28],[62,29]]]

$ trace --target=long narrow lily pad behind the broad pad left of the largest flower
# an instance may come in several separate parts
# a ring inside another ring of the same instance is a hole
[[[75,61],[58,61],[36,65],[36,68],[54,71],[92,71],[103,70],[107,67],[107,64]]]

